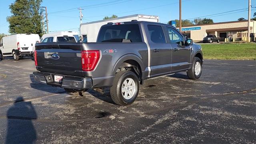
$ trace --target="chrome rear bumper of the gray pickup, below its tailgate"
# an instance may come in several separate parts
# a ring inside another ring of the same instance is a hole
[[[59,86],[61,88],[70,88],[70,89],[92,88],[91,78],[60,75],[60,76],[63,76],[63,78],[61,82],[58,83],[58,82],[54,82],[54,75],[55,74],[46,73],[46,72],[33,72],[34,80],[42,84],[48,84],[52,86]]]

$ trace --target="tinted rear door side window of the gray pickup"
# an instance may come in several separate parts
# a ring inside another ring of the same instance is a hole
[[[166,43],[162,26],[148,25],[150,40],[154,43]]]

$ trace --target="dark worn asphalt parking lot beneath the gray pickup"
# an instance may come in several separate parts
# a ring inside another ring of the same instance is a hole
[[[134,104],[34,82],[34,61],[0,61],[0,143],[256,143],[256,61],[205,60],[140,85]],[[16,102],[15,102],[16,101]]]

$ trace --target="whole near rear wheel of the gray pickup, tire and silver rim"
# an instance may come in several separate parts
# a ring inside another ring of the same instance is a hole
[[[116,73],[110,95],[112,100],[121,106],[132,104],[139,93],[139,80],[131,71],[120,71]]]

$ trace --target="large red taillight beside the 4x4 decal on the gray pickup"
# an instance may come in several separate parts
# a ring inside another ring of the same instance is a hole
[[[100,51],[99,50],[82,50],[82,70],[91,71],[96,67],[99,59],[100,59]]]

